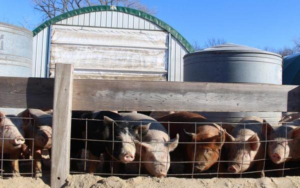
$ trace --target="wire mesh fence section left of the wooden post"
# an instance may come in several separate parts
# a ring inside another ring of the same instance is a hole
[[[41,118],[42,119],[42,118]],[[32,124],[24,124],[24,120]],[[0,115],[1,178],[49,173],[49,152],[36,145],[36,118]],[[51,137],[49,137],[51,139]]]

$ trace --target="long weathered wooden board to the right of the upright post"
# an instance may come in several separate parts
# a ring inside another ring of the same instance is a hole
[[[270,84],[74,80],[73,110],[299,111],[300,88]]]

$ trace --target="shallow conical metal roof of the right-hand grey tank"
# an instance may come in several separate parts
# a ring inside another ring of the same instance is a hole
[[[232,43],[226,43],[226,44],[222,44],[222,45],[213,46],[210,48],[204,48],[202,50],[199,50],[199,51],[196,51],[196,52],[193,52],[190,54],[186,54],[185,56],[202,54],[202,53],[216,53],[216,52],[222,52],[222,53],[247,52],[247,53],[259,53],[259,54],[271,54],[271,55],[282,58],[281,55],[276,54],[276,53],[266,52],[263,50],[259,50],[257,48],[251,48],[248,46],[236,45],[236,44],[232,44]]]

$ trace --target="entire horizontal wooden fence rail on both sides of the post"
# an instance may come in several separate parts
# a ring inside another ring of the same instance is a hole
[[[54,79],[0,77],[0,107],[51,109]],[[73,81],[73,110],[300,111],[300,87],[271,84]]]

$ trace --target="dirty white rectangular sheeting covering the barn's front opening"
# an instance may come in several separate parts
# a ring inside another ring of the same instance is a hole
[[[50,77],[69,63],[75,78],[166,81],[167,58],[167,32],[52,26]]]

